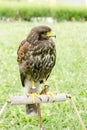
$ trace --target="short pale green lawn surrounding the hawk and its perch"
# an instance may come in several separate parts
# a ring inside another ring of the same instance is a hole
[[[51,26],[57,61],[48,79],[51,90],[70,93],[87,127],[87,23],[0,22],[0,108],[11,95],[21,95],[16,61],[20,42],[39,24]],[[46,130],[82,130],[70,103],[42,104]],[[37,117],[26,117],[24,106],[8,106],[0,117],[0,130],[39,130]]]

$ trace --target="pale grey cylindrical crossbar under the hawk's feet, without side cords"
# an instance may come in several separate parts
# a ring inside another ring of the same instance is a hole
[[[63,102],[66,101],[66,94],[54,94],[54,95],[39,95],[39,97],[34,97],[35,103],[49,103],[49,102]],[[23,105],[32,104],[32,96],[12,96],[10,98],[12,105]]]

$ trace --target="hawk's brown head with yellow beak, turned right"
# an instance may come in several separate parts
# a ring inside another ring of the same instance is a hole
[[[48,26],[36,26],[32,28],[29,36],[27,37],[28,41],[35,40],[47,40],[51,37],[56,37],[52,32],[51,28]]]

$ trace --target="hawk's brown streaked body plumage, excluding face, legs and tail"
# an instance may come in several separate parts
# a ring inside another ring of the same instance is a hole
[[[48,38],[38,40],[41,30],[50,31],[51,29],[44,26],[33,28],[28,38],[21,43],[17,52],[20,73],[34,82],[47,79],[56,61],[53,40]]]

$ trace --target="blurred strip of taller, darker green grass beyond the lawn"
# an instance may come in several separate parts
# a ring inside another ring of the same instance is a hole
[[[0,1],[0,18],[30,21],[32,17],[52,17],[57,21],[86,21],[87,5],[46,2]]]

